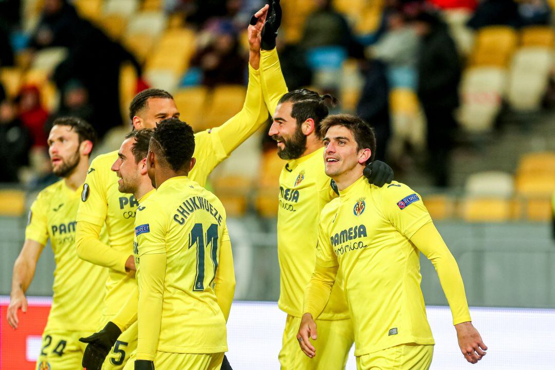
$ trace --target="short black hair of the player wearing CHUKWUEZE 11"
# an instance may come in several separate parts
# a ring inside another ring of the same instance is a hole
[[[153,130],[150,146],[160,163],[170,166],[174,171],[181,170],[193,158],[193,128],[178,118],[167,118]]]

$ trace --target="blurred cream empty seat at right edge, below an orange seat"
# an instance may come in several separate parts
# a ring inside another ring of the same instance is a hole
[[[541,108],[553,66],[553,50],[544,47],[519,49],[509,73],[508,102],[519,111]]]

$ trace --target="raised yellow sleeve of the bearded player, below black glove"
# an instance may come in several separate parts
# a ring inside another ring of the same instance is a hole
[[[260,50],[260,70],[264,102],[270,114],[274,115],[279,99],[287,94],[287,84],[281,72],[278,51],[275,48]]]

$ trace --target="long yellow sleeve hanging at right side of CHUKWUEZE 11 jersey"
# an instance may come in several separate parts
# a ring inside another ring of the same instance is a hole
[[[235,270],[233,267],[233,254],[231,252],[231,241],[229,240],[228,228],[224,224],[224,233],[221,237],[220,263],[215,277],[215,294],[224,313],[225,321],[228,321],[231,302],[235,293]]]

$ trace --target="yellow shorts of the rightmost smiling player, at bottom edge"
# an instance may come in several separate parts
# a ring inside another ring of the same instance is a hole
[[[427,370],[433,356],[433,345],[409,343],[363,354],[356,358],[357,370]]]

